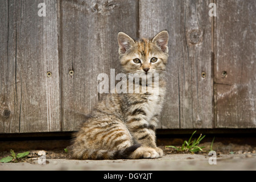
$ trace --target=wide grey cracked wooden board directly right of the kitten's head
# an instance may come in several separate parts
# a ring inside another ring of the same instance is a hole
[[[168,30],[169,65],[161,128],[213,125],[209,1],[139,1],[139,35]],[[201,73],[206,76],[202,77]]]

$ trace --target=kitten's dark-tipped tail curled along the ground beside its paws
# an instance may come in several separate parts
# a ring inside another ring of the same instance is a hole
[[[72,151],[69,155],[69,158],[72,159],[89,159],[89,160],[114,160],[114,159],[129,159],[129,156],[141,147],[141,144],[133,144],[130,147],[124,148],[118,151],[109,151],[109,150],[94,150],[94,151]]]

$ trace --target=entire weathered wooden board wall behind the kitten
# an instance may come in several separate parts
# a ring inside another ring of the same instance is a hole
[[[79,129],[101,98],[98,74],[120,72],[118,32],[162,30],[170,57],[159,128],[255,128],[256,5],[215,0],[213,18],[211,2],[1,1],[0,133]]]

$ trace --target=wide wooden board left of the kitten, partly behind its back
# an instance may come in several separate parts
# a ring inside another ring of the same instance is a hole
[[[100,97],[99,73],[117,69],[119,31],[137,33],[137,1],[62,1],[63,131],[79,128]],[[69,75],[73,71],[73,75]],[[118,70],[115,71],[117,73]]]

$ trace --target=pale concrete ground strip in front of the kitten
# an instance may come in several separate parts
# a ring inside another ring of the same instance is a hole
[[[139,160],[32,160],[30,163],[0,163],[0,170],[256,170],[256,154],[168,154],[159,159]],[[43,164],[39,164],[43,163]],[[45,163],[45,164],[44,164]]]

